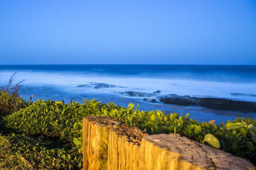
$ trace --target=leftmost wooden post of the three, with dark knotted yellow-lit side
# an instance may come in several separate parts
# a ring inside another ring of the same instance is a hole
[[[110,117],[85,117],[82,125],[83,169],[106,169],[108,133],[119,123]]]

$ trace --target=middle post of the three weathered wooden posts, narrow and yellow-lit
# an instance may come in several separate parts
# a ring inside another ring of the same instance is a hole
[[[112,129],[108,139],[108,169],[138,169],[138,150],[143,133],[138,128]]]

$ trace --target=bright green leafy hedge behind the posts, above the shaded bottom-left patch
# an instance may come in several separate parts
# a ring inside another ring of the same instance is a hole
[[[96,100],[85,101],[84,104],[38,100],[4,120],[8,128],[20,133],[50,137],[65,145],[63,155],[65,158],[69,155],[69,166],[82,168],[82,117],[93,115],[116,118],[119,122],[130,127],[137,126],[148,134],[181,134],[234,155],[255,159],[256,121],[252,118],[237,118],[233,122],[215,125],[213,121],[199,123],[188,117],[188,114],[180,116],[177,113],[167,115],[160,110],[140,111],[138,108],[134,109],[134,104],[121,107],[113,102],[102,104]],[[20,150],[23,148],[26,148],[25,145],[20,146]]]

